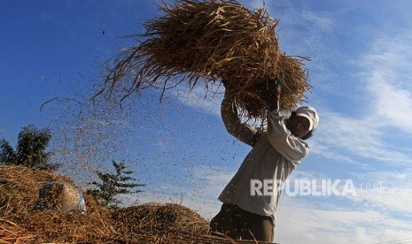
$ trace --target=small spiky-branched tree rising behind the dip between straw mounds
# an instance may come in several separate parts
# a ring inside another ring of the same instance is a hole
[[[134,173],[128,171],[124,162],[117,163],[112,161],[115,173],[97,172],[97,177],[101,182],[93,181],[90,184],[97,188],[91,188],[87,190],[88,194],[91,194],[97,202],[107,208],[118,208],[121,203],[116,198],[118,194],[133,194],[142,192],[137,187],[144,187],[145,184],[131,183],[130,181],[136,181],[136,179],[129,175]],[[133,190],[135,188],[135,190]]]

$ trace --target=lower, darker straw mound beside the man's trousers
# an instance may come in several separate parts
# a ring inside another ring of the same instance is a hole
[[[113,210],[116,242],[124,243],[264,243],[256,240],[232,240],[220,233],[211,233],[209,222],[182,205],[149,202]]]

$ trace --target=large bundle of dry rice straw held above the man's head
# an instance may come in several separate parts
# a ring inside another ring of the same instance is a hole
[[[118,83],[127,90],[122,99],[148,87],[163,95],[182,82],[191,89],[199,79],[207,92],[209,82],[227,80],[227,94],[235,96],[240,115],[258,120],[266,118],[274,80],[282,83],[281,107],[292,109],[305,98],[307,57],[279,50],[278,21],[264,8],[249,11],[230,0],[176,0],[159,9],[164,16],[147,21],[144,34],[132,35],[138,44],[114,57],[97,95],[112,95]]]

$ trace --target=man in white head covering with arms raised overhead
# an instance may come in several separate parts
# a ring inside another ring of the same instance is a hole
[[[304,140],[312,136],[319,122],[310,106],[279,111],[280,88],[275,90],[268,101],[268,131],[264,133],[240,122],[234,99],[225,93],[223,123],[230,134],[253,149],[219,196],[223,204],[211,220],[212,232],[237,240],[274,240],[281,186],[307,156],[309,145]]]

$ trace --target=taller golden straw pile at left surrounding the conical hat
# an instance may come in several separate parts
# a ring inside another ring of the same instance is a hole
[[[35,210],[38,190],[49,181],[73,179],[22,166],[0,165],[0,233],[4,243],[78,242],[109,238],[115,232],[108,221],[108,211],[84,195],[86,214]]]

